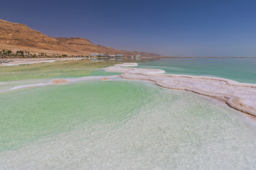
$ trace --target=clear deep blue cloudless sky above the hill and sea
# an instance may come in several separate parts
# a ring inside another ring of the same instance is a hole
[[[255,0],[3,0],[0,18],[121,50],[256,57]]]

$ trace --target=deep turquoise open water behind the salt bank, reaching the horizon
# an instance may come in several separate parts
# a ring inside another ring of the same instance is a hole
[[[166,74],[222,77],[256,84],[256,59],[161,59],[139,63],[140,68],[164,69]]]

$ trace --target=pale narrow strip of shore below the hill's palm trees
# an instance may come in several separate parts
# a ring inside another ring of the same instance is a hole
[[[41,62],[60,62],[68,60],[84,60],[85,58],[26,58],[26,59],[4,59],[0,60],[0,66],[14,66],[14,65],[23,65],[23,64],[36,64]],[[86,58],[87,59],[87,58]],[[9,61],[6,63],[6,61]]]

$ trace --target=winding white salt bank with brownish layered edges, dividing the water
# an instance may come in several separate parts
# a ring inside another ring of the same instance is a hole
[[[125,64],[124,64],[125,65]],[[106,72],[124,72],[123,79],[154,81],[168,89],[192,91],[223,101],[231,108],[256,116],[256,84],[244,84],[230,79],[163,74],[161,69],[107,67]]]

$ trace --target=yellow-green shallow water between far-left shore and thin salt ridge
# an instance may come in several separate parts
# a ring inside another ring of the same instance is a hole
[[[38,64],[0,67],[1,81],[19,81],[26,79],[73,78],[98,75],[113,75],[103,72],[102,68],[112,66],[115,62],[91,62],[90,60],[74,60]],[[1,85],[1,84],[0,84]]]

